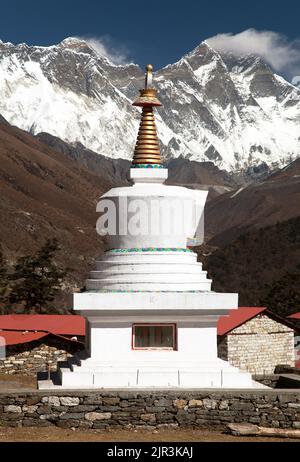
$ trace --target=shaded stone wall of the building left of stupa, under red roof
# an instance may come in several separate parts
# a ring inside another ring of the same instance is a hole
[[[56,370],[57,361],[66,361],[84,346],[78,342],[68,342],[56,336],[29,343],[9,345],[6,358],[0,360],[0,374],[22,374],[35,376],[37,372]]]

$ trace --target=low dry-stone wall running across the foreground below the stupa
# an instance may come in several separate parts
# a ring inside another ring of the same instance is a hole
[[[0,426],[207,428],[228,422],[300,429],[300,391],[0,392]]]

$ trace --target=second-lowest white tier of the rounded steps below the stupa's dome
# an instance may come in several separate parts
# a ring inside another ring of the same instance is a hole
[[[198,275],[206,277],[207,271],[202,271],[202,267],[197,265],[119,265],[111,268],[101,268],[99,270],[90,271],[91,279],[103,279],[110,276],[123,276],[123,275],[165,275],[165,274],[174,274],[174,275]]]

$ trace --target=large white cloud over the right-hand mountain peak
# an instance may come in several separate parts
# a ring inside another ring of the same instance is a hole
[[[273,31],[247,29],[238,34],[218,34],[206,40],[214,49],[235,55],[255,54],[264,58],[277,72],[289,78],[300,75],[300,40],[289,41]]]

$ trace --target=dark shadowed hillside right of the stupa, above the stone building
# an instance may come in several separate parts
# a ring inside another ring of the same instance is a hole
[[[239,292],[240,306],[300,309],[300,216],[244,234],[200,259],[213,290]]]

